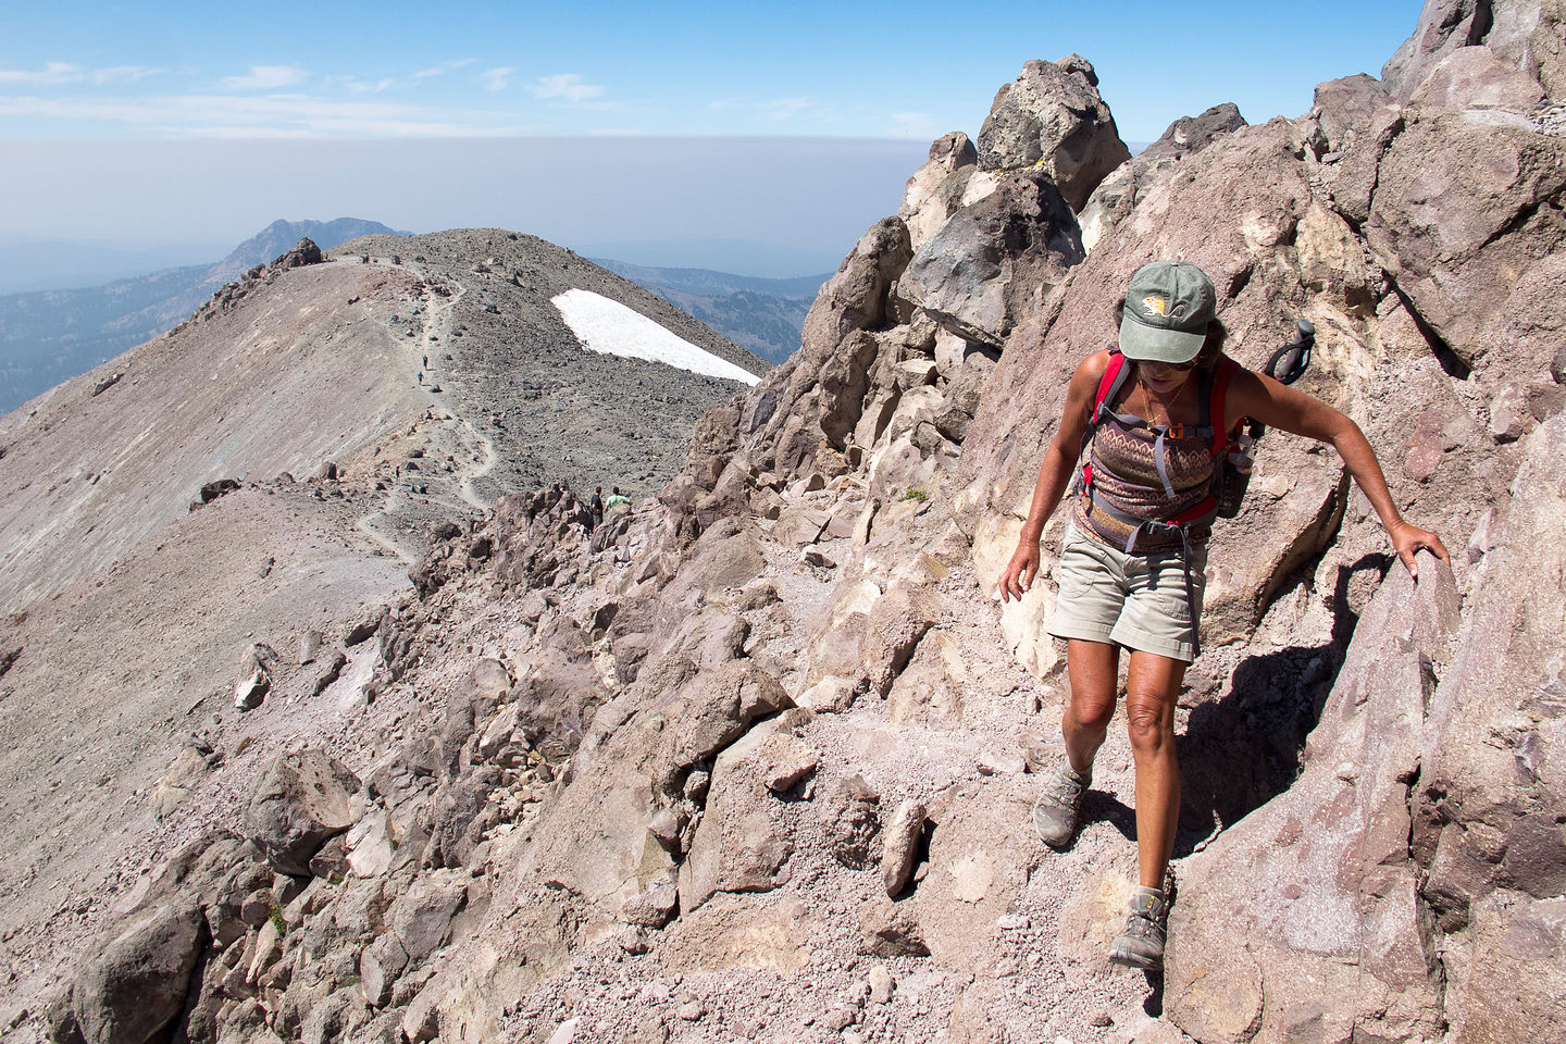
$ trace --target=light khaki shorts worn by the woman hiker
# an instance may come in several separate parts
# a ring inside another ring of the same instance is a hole
[[[1190,603],[1181,549],[1126,554],[1066,529],[1055,579],[1060,595],[1049,634],[1123,645],[1170,659],[1196,659],[1207,545],[1192,548]]]

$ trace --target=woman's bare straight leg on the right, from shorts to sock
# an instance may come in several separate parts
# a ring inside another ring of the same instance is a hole
[[[1137,864],[1140,883],[1160,891],[1179,823],[1174,704],[1184,678],[1182,661],[1140,651],[1132,651],[1126,671],[1126,726],[1137,764]]]

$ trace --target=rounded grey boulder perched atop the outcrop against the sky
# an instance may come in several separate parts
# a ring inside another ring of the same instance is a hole
[[[1029,61],[1002,86],[979,130],[985,171],[1040,167],[1071,210],[1082,210],[1104,177],[1131,158],[1098,94],[1098,74],[1081,55]]]

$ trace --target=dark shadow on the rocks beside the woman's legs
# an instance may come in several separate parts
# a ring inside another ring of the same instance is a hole
[[[1339,567],[1333,631],[1325,645],[1286,646],[1240,661],[1228,695],[1190,712],[1184,734],[1174,740],[1181,761],[1176,858],[1294,784],[1304,742],[1322,717],[1359,623],[1350,587],[1358,579],[1364,590],[1373,590],[1394,562],[1391,554],[1367,554]]]

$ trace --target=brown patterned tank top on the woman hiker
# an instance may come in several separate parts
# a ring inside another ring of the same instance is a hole
[[[1128,382],[1126,393],[1135,387]],[[1110,402],[1106,407],[1115,405]],[[1121,402],[1123,405],[1123,402]],[[1099,499],[1134,518],[1162,521],[1181,509],[1207,496],[1212,485],[1212,438],[1206,435],[1164,437],[1164,476],[1159,474],[1159,435],[1146,427],[1126,427],[1106,409],[1088,460],[1093,465],[1093,490]],[[1164,477],[1168,477],[1165,488]],[[1173,490],[1173,491],[1170,491]],[[1073,520],[1077,529],[1120,551],[1131,540],[1134,523],[1121,521],[1106,510],[1093,507],[1085,490],[1079,490],[1073,504]],[[1203,543],[1212,535],[1212,521],[1190,527],[1192,543]],[[1179,549],[1181,538],[1170,532],[1142,531],[1137,537],[1137,553]]]

